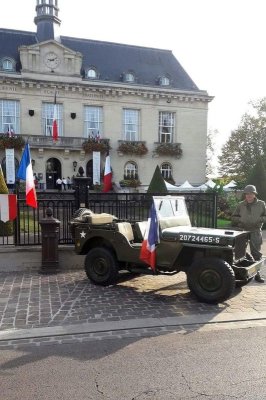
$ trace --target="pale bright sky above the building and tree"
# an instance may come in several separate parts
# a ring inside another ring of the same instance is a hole
[[[3,0],[2,0],[3,1]],[[215,96],[209,129],[220,143],[250,100],[266,96],[265,0],[59,0],[61,34],[172,50]],[[36,0],[7,0],[0,27],[35,32]]]

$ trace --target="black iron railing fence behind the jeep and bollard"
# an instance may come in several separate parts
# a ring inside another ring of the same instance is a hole
[[[26,206],[25,193],[18,193],[17,219],[0,223],[0,246],[29,246],[41,244],[39,222],[45,218],[48,207],[60,221],[59,244],[70,244],[69,231],[77,204],[77,192],[38,192],[38,208]],[[217,198],[215,193],[183,193],[193,226],[216,227]],[[141,221],[148,218],[151,195],[142,193],[91,193],[86,196],[85,207],[95,213],[110,213],[121,220]]]

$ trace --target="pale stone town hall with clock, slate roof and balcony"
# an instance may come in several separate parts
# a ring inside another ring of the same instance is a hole
[[[205,180],[212,97],[171,51],[60,36],[58,0],[37,0],[34,22],[36,32],[0,29],[3,169],[1,141],[11,134],[29,141],[47,188],[79,167],[92,178],[92,150],[102,151],[102,170],[108,146],[114,182],[148,185],[157,165],[176,184]]]

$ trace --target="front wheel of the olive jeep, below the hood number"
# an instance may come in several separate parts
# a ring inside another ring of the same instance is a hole
[[[197,298],[206,303],[228,299],[235,289],[235,274],[231,266],[218,258],[202,258],[191,264],[187,284]]]

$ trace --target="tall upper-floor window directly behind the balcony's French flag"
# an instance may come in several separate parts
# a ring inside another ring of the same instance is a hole
[[[56,104],[56,121],[58,136],[63,136],[63,106]],[[54,103],[43,103],[42,105],[42,132],[44,136],[53,135]]]

